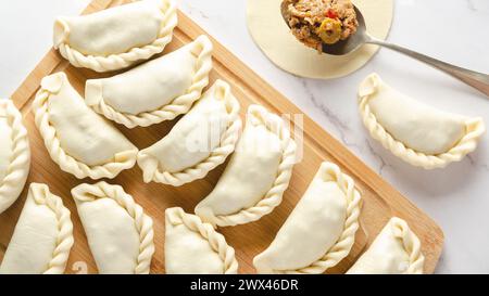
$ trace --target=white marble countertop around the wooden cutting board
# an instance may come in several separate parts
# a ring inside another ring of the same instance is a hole
[[[0,2],[0,96],[9,96],[45,55],[54,16],[78,13],[88,2]],[[442,227],[446,245],[438,273],[489,273],[489,136],[461,163],[442,170],[413,168],[365,132],[355,91],[367,74],[377,72],[413,96],[446,111],[482,116],[487,125],[489,99],[389,50],[346,78],[297,78],[275,67],[253,43],[246,27],[246,0],[180,0],[180,8]],[[488,27],[487,0],[396,0],[389,40],[489,73]]]

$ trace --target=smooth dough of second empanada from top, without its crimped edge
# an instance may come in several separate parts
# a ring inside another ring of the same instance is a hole
[[[88,80],[87,102],[104,100],[116,111],[133,115],[167,105],[192,85],[198,62],[191,52],[192,44],[120,75]]]

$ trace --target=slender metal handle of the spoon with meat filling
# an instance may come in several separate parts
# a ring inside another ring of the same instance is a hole
[[[411,57],[414,57],[421,62],[424,62],[430,66],[434,66],[440,70],[446,72],[447,74],[462,80],[463,82],[472,86],[473,88],[479,90],[487,96],[489,96],[489,75],[484,73],[478,73],[474,70],[469,70],[466,68],[457,67],[454,65],[451,65],[449,63],[439,61],[437,59],[430,57],[428,55],[412,51],[410,49],[386,42],[384,40],[376,39],[374,37],[369,37],[366,41],[366,43],[371,44],[377,44],[385,48],[389,48],[391,50],[401,52],[405,55],[409,55]]]

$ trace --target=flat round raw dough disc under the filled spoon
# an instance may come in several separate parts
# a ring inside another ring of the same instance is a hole
[[[363,46],[347,55],[319,54],[302,44],[290,33],[280,14],[281,0],[247,0],[248,28],[266,56],[291,74],[330,79],[346,76],[365,65],[378,51],[377,46]],[[385,39],[392,23],[392,0],[352,0],[365,17],[367,31]]]

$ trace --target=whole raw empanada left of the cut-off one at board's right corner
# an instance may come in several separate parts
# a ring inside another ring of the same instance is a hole
[[[323,273],[351,250],[361,196],[337,165],[323,163],[272,244],[254,257],[259,273]]]

